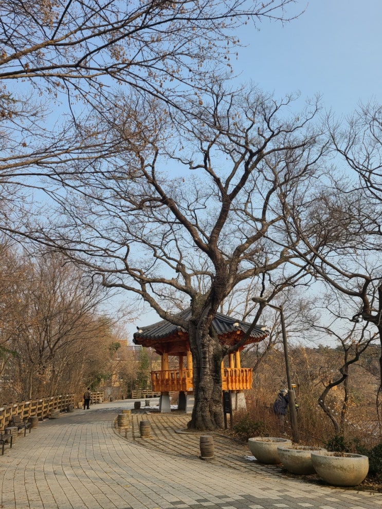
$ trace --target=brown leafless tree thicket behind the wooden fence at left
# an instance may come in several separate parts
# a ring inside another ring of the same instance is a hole
[[[82,381],[98,341],[110,341],[111,324],[96,314],[105,292],[58,255],[19,250],[3,264],[2,295],[11,290],[12,299],[4,301],[2,315],[2,388],[7,391],[9,381],[8,393],[21,399],[67,392]]]

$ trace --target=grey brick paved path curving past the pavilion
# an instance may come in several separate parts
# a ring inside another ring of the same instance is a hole
[[[248,459],[245,446],[214,436],[215,459],[198,459],[187,416],[135,413],[130,401],[94,405],[39,423],[0,457],[5,509],[382,509],[382,494],[302,481]],[[152,438],[141,439],[139,420]],[[121,431],[121,432],[120,432]]]

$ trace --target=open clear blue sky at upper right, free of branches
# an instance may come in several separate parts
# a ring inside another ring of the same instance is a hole
[[[382,103],[381,22],[381,0],[312,0],[284,27],[266,21],[259,31],[246,26],[240,39],[247,47],[235,72],[277,96],[319,92],[326,109],[348,115],[360,100]]]

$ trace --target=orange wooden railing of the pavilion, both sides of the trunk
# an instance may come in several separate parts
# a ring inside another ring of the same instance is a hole
[[[192,369],[168,369],[151,372],[154,391],[170,392],[193,390]],[[251,368],[223,368],[222,390],[246,390],[252,387]]]

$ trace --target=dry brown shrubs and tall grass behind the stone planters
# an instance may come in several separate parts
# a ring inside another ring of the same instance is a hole
[[[359,362],[349,367],[346,383],[332,388],[325,397],[325,413],[319,404],[328,387],[340,378],[339,369],[344,352],[340,347],[303,348],[290,350],[290,367],[296,383],[296,397],[300,445],[325,447],[339,454],[350,452],[369,457],[369,474],[357,489],[382,491],[382,439],[377,414],[379,388],[379,353],[369,346]],[[288,417],[283,424],[272,411],[278,390],[285,384],[283,352],[272,349],[254,373],[251,391],[247,394],[246,411],[233,416],[232,429],[226,432],[247,441],[253,436],[285,437],[292,439]],[[244,363],[253,362],[250,355]],[[340,433],[333,422],[337,422]],[[320,482],[317,475],[312,482]]]

